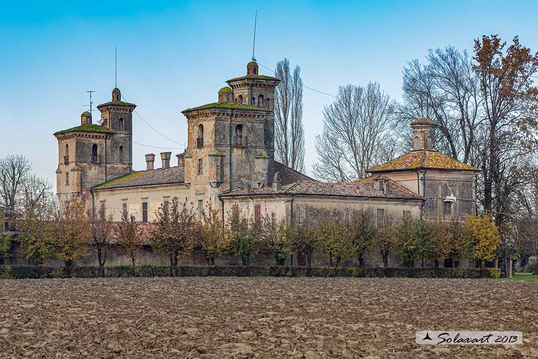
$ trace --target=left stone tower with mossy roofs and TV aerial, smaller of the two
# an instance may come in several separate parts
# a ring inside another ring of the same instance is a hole
[[[80,125],[58,131],[56,194],[61,201],[80,196],[91,205],[90,188],[132,169],[132,111],[136,105],[121,100],[119,89],[111,102],[98,105],[102,124],[93,124],[83,112]]]

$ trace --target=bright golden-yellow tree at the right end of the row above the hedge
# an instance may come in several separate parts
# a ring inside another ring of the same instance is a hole
[[[487,214],[484,217],[467,215],[465,226],[474,245],[473,257],[480,261],[480,267],[483,267],[484,261],[492,261],[495,258],[499,245],[499,230]]]

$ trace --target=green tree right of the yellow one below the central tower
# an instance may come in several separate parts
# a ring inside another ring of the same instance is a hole
[[[241,257],[243,265],[250,264],[250,258],[260,249],[261,225],[258,221],[244,215],[229,216],[230,250],[234,256]]]

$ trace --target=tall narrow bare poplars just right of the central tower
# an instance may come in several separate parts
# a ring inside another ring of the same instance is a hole
[[[302,123],[301,68],[295,66],[293,75],[289,60],[277,62],[275,76],[280,85],[275,90],[275,158],[296,171],[305,171],[305,130]]]

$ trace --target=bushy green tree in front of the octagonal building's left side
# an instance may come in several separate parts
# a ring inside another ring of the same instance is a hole
[[[422,218],[402,217],[397,226],[398,244],[396,255],[406,266],[413,267],[415,261],[431,258],[434,248],[433,225]]]

